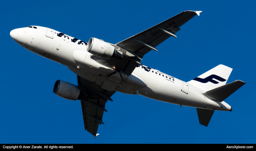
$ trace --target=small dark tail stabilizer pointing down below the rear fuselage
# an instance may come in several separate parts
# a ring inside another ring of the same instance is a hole
[[[199,123],[207,127],[212,118],[213,113],[214,113],[214,110],[197,108]]]

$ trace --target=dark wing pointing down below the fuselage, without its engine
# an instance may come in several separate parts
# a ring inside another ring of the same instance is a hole
[[[98,125],[104,124],[102,117],[104,111],[107,112],[105,104],[107,100],[112,100],[110,97],[116,91],[102,89],[100,85],[86,80],[79,75],[77,75],[77,82],[78,87],[84,92],[84,95],[88,97],[87,101],[81,101],[84,128],[96,139],[98,135]]]

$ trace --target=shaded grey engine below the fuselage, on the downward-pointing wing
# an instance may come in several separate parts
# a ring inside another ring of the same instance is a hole
[[[87,101],[87,97],[83,94],[83,92],[77,88],[75,85],[72,85],[68,82],[57,80],[53,86],[53,93],[59,97],[76,101],[85,100]]]

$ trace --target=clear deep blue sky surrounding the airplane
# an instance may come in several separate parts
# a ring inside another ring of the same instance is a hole
[[[0,143],[255,143],[254,1],[4,1],[0,9]],[[185,10],[201,10],[143,57],[142,63],[190,81],[223,64],[227,83],[246,84],[215,111],[208,127],[196,108],[115,93],[97,139],[84,130],[80,101],[52,93],[56,80],[77,84],[66,66],[36,55],[10,37],[11,30],[48,27],[83,41],[118,43]]]

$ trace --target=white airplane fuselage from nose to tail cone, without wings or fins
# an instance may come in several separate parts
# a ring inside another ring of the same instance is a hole
[[[33,27],[36,27],[33,28]],[[59,36],[58,36],[58,35]],[[74,73],[99,85],[116,72],[95,61],[94,55],[86,51],[86,43],[62,33],[40,26],[19,28],[11,31],[12,39],[33,53],[67,66]],[[75,40],[74,40],[75,39]],[[75,50],[84,50],[85,60],[78,68],[74,60]],[[156,69],[138,65],[131,75],[120,72],[122,81],[115,91],[126,94],[138,94],[147,98],[172,104],[197,108],[212,108],[229,111],[231,107],[224,101],[213,101],[205,97],[200,90],[186,82],[162,73]]]

